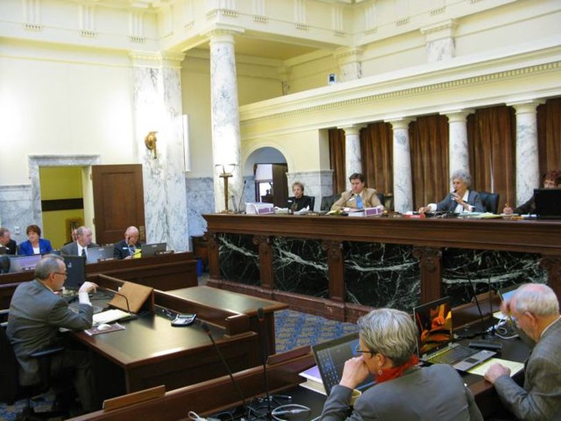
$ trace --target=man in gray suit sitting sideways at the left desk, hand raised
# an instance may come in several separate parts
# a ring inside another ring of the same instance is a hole
[[[73,312],[60,294],[66,280],[66,265],[60,256],[46,255],[35,267],[35,279],[21,283],[12,296],[6,333],[19,362],[21,385],[39,382],[39,366],[30,354],[55,345],[59,328],[91,328],[93,310],[88,292],[97,285],[85,282],[80,287],[78,312]],[[98,409],[94,397],[87,352],[65,349],[51,359],[51,374],[73,371],[73,384],[87,412]]]

